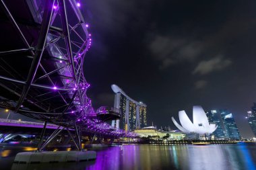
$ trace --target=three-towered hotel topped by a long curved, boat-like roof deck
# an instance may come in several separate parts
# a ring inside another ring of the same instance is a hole
[[[111,85],[115,92],[114,108],[121,111],[121,119],[113,120],[112,126],[125,130],[135,130],[147,126],[147,105],[131,99],[120,87]]]

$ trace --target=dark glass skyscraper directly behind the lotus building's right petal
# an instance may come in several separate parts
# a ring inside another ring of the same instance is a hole
[[[206,116],[209,120],[210,124],[216,124],[218,127],[217,129],[212,133],[215,138],[225,138],[224,130],[222,126],[222,122],[220,120],[220,116],[217,110],[210,110],[206,112]]]

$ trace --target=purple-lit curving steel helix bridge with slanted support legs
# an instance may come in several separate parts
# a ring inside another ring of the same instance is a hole
[[[40,142],[39,150],[64,129],[61,126],[68,132],[75,129],[75,138],[69,134],[80,150],[83,130],[135,137],[104,123],[120,118],[119,110],[100,108],[95,112],[86,95],[90,84],[84,78],[83,64],[92,38],[79,9],[81,3],[0,0],[0,5],[4,21],[0,36],[8,37],[1,40],[5,46],[0,48],[0,105],[44,121],[44,130],[47,122],[59,126],[44,144]]]

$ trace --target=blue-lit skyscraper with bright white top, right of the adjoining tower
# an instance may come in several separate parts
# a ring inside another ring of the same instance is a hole
[[[227,110],[220,110],[220,116],[222,117],[222,122],[224,124],[225,135],[230,139],[241,139],[232,113]]]

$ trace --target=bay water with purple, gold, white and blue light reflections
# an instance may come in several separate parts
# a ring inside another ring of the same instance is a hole
[[[9,150],[9,148],[8,148]],[[12,150],[11,150],[12,151]],[[8,157],[1,152],[0,165]],[[98,149],[96,161],[14,165],[14,169],[255,169],[256,146],[226,145],[121,145]],[[5,157],[3,157],[5,155]],[[11,157],[11,155],[10,155]],[[12,155],[13,157],[13,155]],[[12,159],[13,161],[13,159]],[[6,169],[11,167],[6,167]]]

